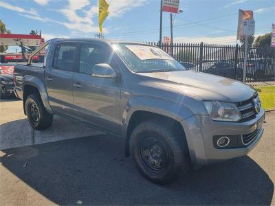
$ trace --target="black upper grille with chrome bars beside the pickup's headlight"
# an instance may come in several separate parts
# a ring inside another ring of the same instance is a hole
[[[254,100],[259,102],[259,105],[261,105],[261,100],[258,95],[256,95],[256,97],[251,98],[249,100],[236,103],[236,106],[241,113],[241,117],[242,117],[241,122],[245,122],[245,121],[254,119],[256,117]]]

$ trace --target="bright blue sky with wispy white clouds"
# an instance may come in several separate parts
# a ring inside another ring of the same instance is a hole
[[[107,0],[104,38],[158,41],[160,0]],[[175,42],[236,44],[238,10],[253,10],[255,36],[271,32],[274,0],[181,0],[175,16]],[[0,19],[12,34],[41,30],[50,38],[98,34],[98,0],[0,0]],[[163,35],[170,36],[170,14],[163,14]]]

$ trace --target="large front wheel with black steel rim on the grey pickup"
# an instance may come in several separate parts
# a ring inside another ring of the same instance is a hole
[[[190,160],[183,136],[173,126],[148,120],[131,134],[130,151],[138,170],[146,179],[158,184],[173,183],[179,174],[188,172]]]

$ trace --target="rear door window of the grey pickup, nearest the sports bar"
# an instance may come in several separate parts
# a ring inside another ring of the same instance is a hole
[[[56,46],[54,53],[54,68],[65,71],[72,71],[76,56],[76,45],[60,44]]]

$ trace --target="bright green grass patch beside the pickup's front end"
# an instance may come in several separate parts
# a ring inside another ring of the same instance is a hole
[[[265,110],[275,108],[275,86],[255,87],[258,91]]]

